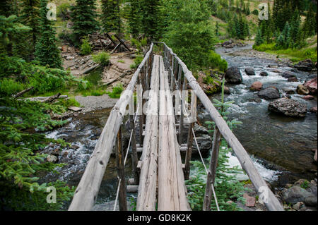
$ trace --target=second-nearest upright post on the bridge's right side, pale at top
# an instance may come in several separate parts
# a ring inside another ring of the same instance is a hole
[[[191,116],[192,116],[192,121],[189,124],[187,153],[186,153],[185,162],[184,162],[184,179],[185,180],[189,180],[189,176],[190,176],[190,161],[192,157],[192,142],[193,142],[192,128],[194,128],[194,123],[196,122],[196,95],[194,92],[192,92],[191,94]]]

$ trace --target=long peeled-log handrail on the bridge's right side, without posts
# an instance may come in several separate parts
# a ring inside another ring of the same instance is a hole
[[[264,204],[267,209],[271,211],[283,211],[283,207],[281,206],[281,203],[277,200],[276,196],[273,194],[273,192],[269,189],[269,187],[266,185],[266,182],[263,178],[261,178],[261,175],[259,174],[259,171],[255,168],[252,159],[249,157],[249,154],[245,150],[245,148],[242,146],[239,140],[235,137],[235,135],[232,133],[232,130],[228,127],[228,124],[225,122],[223,117],[218,113],[218,110],[213,106],[211,100],[206,96],[206,93],[202,90],[199,83],[196,82],[196,78],[192,75],[192,72],[189,71],[187,66],[184,64],[184,62],[179,59],[177,54],[175,54],[172,49],[167,47],[167,45],[163,42],[153,42],[158,44],[164,44],[165,49],[169,51],[170,55],[175,56],[175,59],[177,59],[179,66],[182,67],[182,71],[184,73],[184,76],[187,78],[190,87],[192,87],[192,90],[196,91],[196,96],[199,97],[201,103],[204,105],[206,110],[208,111],[208,114],[210,114],[212,120],[216,123],[216,126],[218,127],[218,130],[220,130],[221,135],[223,138],[228,142],[228,145],[232,148],[232,150],[235,152],[235,155],[237,159],[239,160],[242,169],[244,169],[249,176],[249,179],[252,181],[254,187],[257,189],[257,192],[260,196],[264,196]]]

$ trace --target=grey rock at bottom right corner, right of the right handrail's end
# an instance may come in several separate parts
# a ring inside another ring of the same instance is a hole
[[[296,204],[297,202],[304,202],[307,206],[317,205],[317,196],[308,192],[300,186],[293,186],[285,189],[282,192],[283,200],[288,204]]]

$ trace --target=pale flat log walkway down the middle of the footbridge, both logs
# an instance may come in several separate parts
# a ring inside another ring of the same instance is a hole
[[[141,162],[137,210],[155,210],[157,202],[159,211],[190,210],[172,95],[162,56],[154,56],[153,61]]]

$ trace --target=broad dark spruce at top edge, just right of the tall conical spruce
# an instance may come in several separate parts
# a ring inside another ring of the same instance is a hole
[[[72,8],[73,35],[76,44],[93,32],[98,31],[98,21],[95,0],[76,0],[76,6]]]

